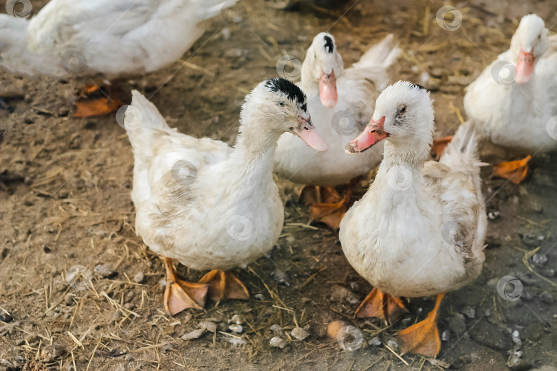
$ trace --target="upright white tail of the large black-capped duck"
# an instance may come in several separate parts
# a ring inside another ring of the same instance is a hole
[[[131,91],[131,104],[127,106],[123,117],[116,117],[118,122],[122,122],[129,137],[131,146],[134,148],[150,147],[152,132],[146,131],[149,128],[159,128],[171,130],[166,124],[166,120],[160,114],[155,104],[149,102],[142,93],[137,90]],[[117,113],[117,116],[120,113]]]

